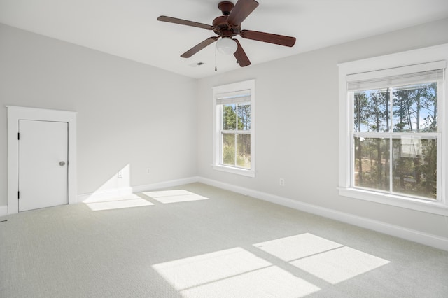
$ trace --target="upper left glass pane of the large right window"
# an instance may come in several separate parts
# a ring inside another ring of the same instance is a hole
[[[389,94],[388,89],[365,90],[354,94],[355,132],[389,131]]]

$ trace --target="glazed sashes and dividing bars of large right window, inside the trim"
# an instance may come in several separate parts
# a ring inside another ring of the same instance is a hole
[[[437,199],[441,176],[437,90],[441,83],[433,80],[349,92],[352,187]]]

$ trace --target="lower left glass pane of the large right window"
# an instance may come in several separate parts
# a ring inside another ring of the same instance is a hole
[[[389,190],[389,140],[355,137],[355,186]]]

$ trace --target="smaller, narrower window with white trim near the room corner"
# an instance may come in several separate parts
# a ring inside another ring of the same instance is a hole
[[[255,81],[214,87],[214,169],[255,176]]]

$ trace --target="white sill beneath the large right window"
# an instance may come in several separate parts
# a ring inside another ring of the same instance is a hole
[[[343,197],[351,197],[353,199],[362,199],[365,201],[373,201],[379,204],[407,208],[416,211],[433,213],[437,215],[448,215],[448,206],[440,201],[426,201],[420,199],[412,199],[401,197],[395,194],[381,194],[368,190],[358,190],[355,188],[339,187],[339,195]]]

